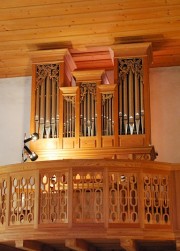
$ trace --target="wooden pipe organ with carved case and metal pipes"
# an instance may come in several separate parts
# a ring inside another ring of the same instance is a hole
[[[31,132],[40,139],[30,144],[38,160],[155,159],[150,133],[151,44],[111,50],[112,67],[102,63],[101,69],[96,64],[78,68],[68,50],[33,54]]]

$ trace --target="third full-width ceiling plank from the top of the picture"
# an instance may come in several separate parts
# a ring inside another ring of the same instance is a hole
[[[130,26],[121,26],[118,23],[112,24],[96,24],[94,25],[79,25],[79,26],[71,26],[71,27],[53,27],[47,29],[32,29],[32,30],[18,30],[18,31],[6,31],[0,32],[1,41],[8,42],[8,41],[16,41],[19,39],[22,40],[34,40],[39,38],[62,38],[62,37],[73,37],[75,36],[96,36],[98,35],[105,35],[106,36],[128,36],[131,34],[132,36],[138,36],[141,34],[157,34],[161,29],[161,33],[168,32],[172,30],[172,23],[154,23],[154,24],[141,24],[135,25],[132,24]],[[108,31],[111,30],[111,33]],[[147,33],[148,30],[148,33]],[[180,32],[180,25],[179,22],[173,23],[173,31]]]

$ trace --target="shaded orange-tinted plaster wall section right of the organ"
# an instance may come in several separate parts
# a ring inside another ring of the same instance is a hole
[[[150,69],[150,97],[157,161],[180,163],[180,67]]]

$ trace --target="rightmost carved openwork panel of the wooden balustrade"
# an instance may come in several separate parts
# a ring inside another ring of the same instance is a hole
[[[144,176],[145,223],[170,224],[170,197],[168,175]]]

